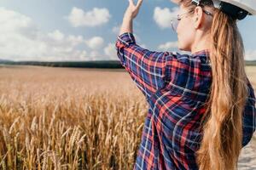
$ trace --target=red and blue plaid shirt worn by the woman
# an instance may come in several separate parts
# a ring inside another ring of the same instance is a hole
[[[212,80],[209,52],[149,51],[137,45],[131,32],[119,35],[115,48],[121,65],[149,104],[134,169],[198,169],[195,151],[202,137],[199,122],[206,111]],[[256,126],[255,96],[249,81],[248,86],[243,146]]]

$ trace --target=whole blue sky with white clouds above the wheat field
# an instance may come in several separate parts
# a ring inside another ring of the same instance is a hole
[[[128,0],[1,0],[0,59],[118,59],[114,43],[128,4]],[[170,27],[176,8],[170,0],[144,0],[133,24],[137,43],[154,51],[178,51],[177,35]],[[256,17],[248,16],[238,26],[246,59],[256,59]]]

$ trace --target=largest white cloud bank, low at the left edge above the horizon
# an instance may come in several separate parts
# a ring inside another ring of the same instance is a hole
[[[87,52],[77,49],[82,36],[55,30],[44,33],[32,19],[0,8],[0,58],[14,60],[86,60]]]

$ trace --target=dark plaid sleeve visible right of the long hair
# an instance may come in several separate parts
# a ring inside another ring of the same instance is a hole
[[[251,83],[248,83],[249,96],[243,112],[242,146],[247,145],[253,137],[256,128],[255,94]]]

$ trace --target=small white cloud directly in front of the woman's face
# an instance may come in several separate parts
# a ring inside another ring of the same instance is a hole
[[[170,8],[154,8],[154,21],[161,29],[172,28],[171,20],[177,17],[178,8],[174,7],[172,10]]]

